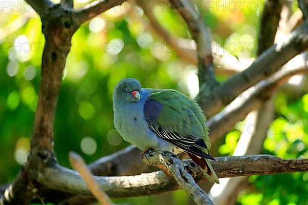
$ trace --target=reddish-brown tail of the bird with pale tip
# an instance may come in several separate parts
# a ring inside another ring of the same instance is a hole
[[[191,153],[188,153],[188,152],[187,152],[187,154],[192,159],[192,161],[194,161],[200,167],[203,175],[205,176],[205,178],[209,182],[219,183],[218,177],[217,177],[213,167],[211,167],[209,159],[198,157],[198,156],[191,154]]]

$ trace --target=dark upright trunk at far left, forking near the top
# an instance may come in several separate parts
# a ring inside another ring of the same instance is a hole
[[[28,161],[6,192],[10,193],[0,200],[4,204],[29,204],[37,197],[35,184],[37,167],[44,166],[49,159],[55,158],[53,151],[53,118],[57,96],[70,50],[70,40],[79,27],[72,18],[72,11],[49,1],[28,1],[40,14],[45,46],[42,57],[42,78],[38,91],[38,103],[34,117],[31,148]]]

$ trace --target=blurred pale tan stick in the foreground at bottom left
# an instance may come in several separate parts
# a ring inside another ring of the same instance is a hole
[[[108,195],[100,189],[98,183],[93,178],[91,172],[88,170],[87,165],[83,158],[74,152],[69,153],[69,161],[74,170],[78,171],[81,177],[86,182],[91,193],[103,205],[111,205],[111,200]]]

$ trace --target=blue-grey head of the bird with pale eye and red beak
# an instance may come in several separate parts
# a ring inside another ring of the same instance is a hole
[[[141,85],[137,79],[124,78],[113,91],[113,100],[119,100],[124,103],[138,102],[140,99]]]

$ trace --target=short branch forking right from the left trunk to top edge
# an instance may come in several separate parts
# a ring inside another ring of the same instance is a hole
[[[75,20],[78,25],[97,16],[108,9],[121,5],[126,0],[97,0],[75,11]]]

